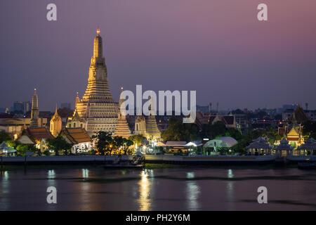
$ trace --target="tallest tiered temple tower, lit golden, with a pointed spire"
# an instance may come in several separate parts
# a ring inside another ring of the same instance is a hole
[[[79,117],[86,122],[89,134],[98,131],[113,133],[117,125],[118,104],[114,103],[107,84],[107,67],[103,57],[103,43],[100,30],[94,38],[93,57],[88,75],[88,86],[83,98],[76,100]]]

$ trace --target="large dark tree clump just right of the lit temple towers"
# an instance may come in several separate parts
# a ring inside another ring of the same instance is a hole
[[[183,123],[183,120],[171,117],[169,127],[162,132],[164,141],[196,141],[199,137],[199,127],[193,123]]]

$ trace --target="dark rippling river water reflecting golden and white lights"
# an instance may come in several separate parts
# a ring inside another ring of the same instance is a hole
[[[0,210],[316,210],[316,171],[27,169],[1,172]],[[57,203],[46,201],[55,186]],[[257,201],[258,187],[268,203]]]

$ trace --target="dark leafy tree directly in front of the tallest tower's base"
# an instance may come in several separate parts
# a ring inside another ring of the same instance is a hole
[[[99,131],[97,135],[93,135],[92,139],[96,141],[98,153],[105,155],[106,152],[112,153],[112,134],[107,131]]]

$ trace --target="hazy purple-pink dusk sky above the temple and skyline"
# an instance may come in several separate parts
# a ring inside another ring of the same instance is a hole
[[[46,6],[57,6],[57,21]],[[268,21],[258,21],[258,4]],[[221,110],[316,108],[315,0],[11,0],[0,2],[0,108],[39,110],[84,95],[100,27],[110,89],[197,91]]]

